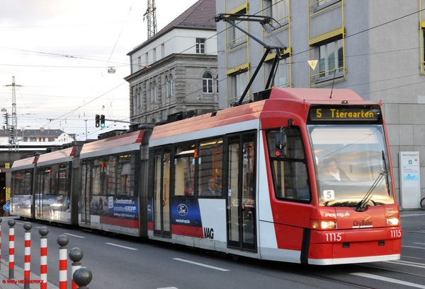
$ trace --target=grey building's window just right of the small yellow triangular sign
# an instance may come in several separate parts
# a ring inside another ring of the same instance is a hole
[[[342,40],[336,40],[317,47],[319,78],[342,73],[344,69]]]

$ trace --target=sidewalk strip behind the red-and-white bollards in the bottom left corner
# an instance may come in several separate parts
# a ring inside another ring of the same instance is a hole
[[[18,289],[23,288],[23,269],[20,267],[15,266],[15,270],[13,271],[13,276],[15,278],[9,280],[8,279],[8,261],[1,259],[1,268],[0,268],[0,289]],[[32,282],[39,282],[40,276],[37,276],[33,273],[30,273],[30,281]],[[16,282],[16,284],[13,283]],[[40,288],[40,283],[31,283],[30,288]],[[50,282],[47,282],[47,289],[57,289],[59,288],[56,285],[53,285]]]

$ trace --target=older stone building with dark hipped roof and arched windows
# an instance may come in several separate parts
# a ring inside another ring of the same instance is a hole
[[[128,53],[130,119],[156,123],[193,110],[217,110],[215,0],[200,0]]]

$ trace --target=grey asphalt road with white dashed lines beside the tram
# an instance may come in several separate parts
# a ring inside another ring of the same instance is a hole
[[[8,218],[2,218],[2,259],[8,260]],[[25,220],[16,219],[16,266],[23,268]],[[47,279],[59,284],[59,245],[67,235],[68,252],[79,247],[81,266],[93,273],[89,288],[424,288],[425,211],[402,212],[402,259],[343,266],[299,264],[242,258],[237,261],[212,252],[108,236],[85,230],[32,222],[31,271],[40,274],[40,235],[49,228]],[[71,261],[68,260],[68,281]],[[32,287],[33,288],[33,287]],[[70,285],[69,285],[70,288]]]

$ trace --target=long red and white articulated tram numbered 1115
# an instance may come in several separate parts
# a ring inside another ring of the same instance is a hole
[[[302,264],[399,259],[380,105],[337,89],[261,98],[84,143],[70,170],[69,223]],[[13,184],[19,176],[13,164]]]

